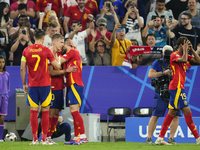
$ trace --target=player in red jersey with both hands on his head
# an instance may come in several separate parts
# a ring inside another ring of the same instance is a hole
[[[165,120],[163,121],[162,129],[155,144],[169,145],[163,139],[169,125],[171,124],[172,119],[177,113],[177,109],[181,109],[182,112],[184,113],[186,124],[196,139],[196,144],[200,145],[200,136],[194,125],[192,119],[192,113],[187,103],[187,97],[184,88],[184,84],[186,81],[185,72],[186,72],[187,61],[192,63],[200,63],[200,57],[194,51],[191,42],[186,37],[180,37],[177,41],[177,45],[178,45],[178,50],[172,53],[170,56],[172,80],[169,85],[169,91],[170,91],[170,101],[168,106],[169,111],[167,116],[165,117]],[[188,50],[193,54],[193,57],[188,55]]]

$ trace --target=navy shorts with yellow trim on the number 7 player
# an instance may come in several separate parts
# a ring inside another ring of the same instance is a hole
[[[32,107],[49,106],[51,103],[51,88],[50,86],[45,87],[28,87],[26,104]]]

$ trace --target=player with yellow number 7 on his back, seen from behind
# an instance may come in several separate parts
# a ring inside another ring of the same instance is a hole
[[[35,31],[35,44],[24,49],[21,58],[21,78],[24,92],[27,93],[27,105],[30,105],[30,122],[33,134],[33,142],[30,145],[38,145],[38,107],[42,107],[42,145],[51,145],[47,141],[49,127],[49,104],[51,102],[50,77],[48,60],[55,69],[60,65],[55,60],[51,50],[43,46],[45,32]],[[28,86],[26,84],[26,66],[28,72]]]

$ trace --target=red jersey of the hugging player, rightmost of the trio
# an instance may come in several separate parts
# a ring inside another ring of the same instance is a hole
[[[83,86],[82,81],[82,61],[81,56],[78,50],[71,49],[63,55],[63,58],[67,61],[67,65],[64,66],[64,69],[67,69],[69,66],[77,66],[76,72],[71,72],[65,74],[67,79],[67,87],[76,83],[78,86]]]

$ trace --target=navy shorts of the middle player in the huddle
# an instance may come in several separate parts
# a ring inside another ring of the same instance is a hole
[[[64,109],[63,90],[52,90],[52,99],[50,108]]]

